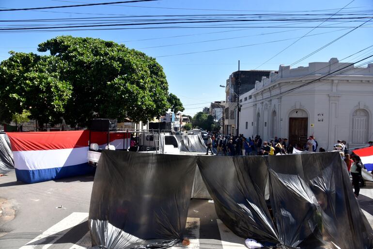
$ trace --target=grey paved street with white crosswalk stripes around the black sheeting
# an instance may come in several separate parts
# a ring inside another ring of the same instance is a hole
[[[1,249],[81,249],[91,246],[88,212],[93,176],[37,184],[16,182],[15,172],[0,177]],[[373,183],[361,189],[359,203],[373,225]],[[14,216],[14,218],[13,218]],[[192,200],[187,233],[192,249],[246,248],[217,218],[214,203]],[[174,248],[182,248],[177,246]]]

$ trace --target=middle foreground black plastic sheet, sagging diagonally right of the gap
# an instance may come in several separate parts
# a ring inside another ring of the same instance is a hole
[[[240,237],[278,243],[264,200],[264,156],[201,156],[198,165],[218,217]]]

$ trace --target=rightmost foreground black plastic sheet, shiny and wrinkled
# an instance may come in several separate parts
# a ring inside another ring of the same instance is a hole
[[[339,152],[268,159],[271,203],[283,244],[305,249],[373,247],[372,228]]]

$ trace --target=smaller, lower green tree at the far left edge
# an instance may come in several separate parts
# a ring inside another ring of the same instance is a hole
[[[10,52],[0,63],[0,120],[30,113],[39,127],[59,123],[72,86],[60,78],[62,62],[52,56]]]

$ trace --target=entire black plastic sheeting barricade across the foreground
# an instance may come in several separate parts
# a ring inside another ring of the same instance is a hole
[[[93,246],[174,245],[183,237],[196,163],[218,217],[238,236],[283,249],[373,247],[372,228],[338,152],[178,156],[123,151],[104,151],[98,163],[89,215]]]

